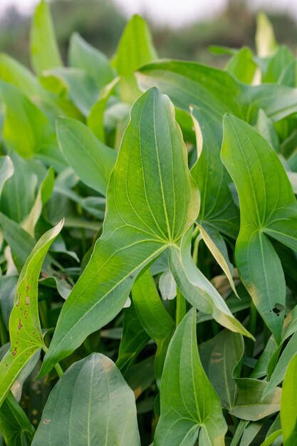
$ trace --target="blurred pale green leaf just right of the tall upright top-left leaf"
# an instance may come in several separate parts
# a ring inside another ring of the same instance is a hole
[[[71,34],[68,61],[71,67],[86,71],[99,88],[113,81],[113,69],[108,58],[78,33]]]

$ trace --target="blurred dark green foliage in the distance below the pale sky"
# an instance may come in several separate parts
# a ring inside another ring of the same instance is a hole
[[[78,31],[86,41],[108,56],[113,56],[118,40],[127,23],[127,16],[112,0],[53,0],[53,21],[63,58],[66,58],[69,36]],[[294,49],[297,24],[286,12],[265,11],[273,24],[276,40]],[[222,46],[254,48],[256,14],[245,0],[229,0],[225,9],[211,19],[193,20],[179,27],[157,25],[146,18],[152,30],[160,57],[194,60],[222,66],[224,56],[214,56],[208,47]],[[0,48],[28,65],[28,34],[30,17],[14,7],[0,17]]]

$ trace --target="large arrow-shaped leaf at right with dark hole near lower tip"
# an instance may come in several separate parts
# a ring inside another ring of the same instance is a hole
[[[222,160],[239,194],[241,229],[236,266],[254,304],[278,343],[286,284],[281,261],[267,236],[297,249],[297,206],[276,152],[243,121],[224,118]]]

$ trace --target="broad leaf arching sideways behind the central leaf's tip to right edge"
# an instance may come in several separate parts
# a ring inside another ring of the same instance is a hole
[[[297,111],[297,90],[283,85],[246,85],[226,71],[194,62],[160,61],[140,69],[141,88],[155,86],[174,105],[189,111],[196,105],[222,120],[224,113],[254,124],[260,108],[274,121]]]

